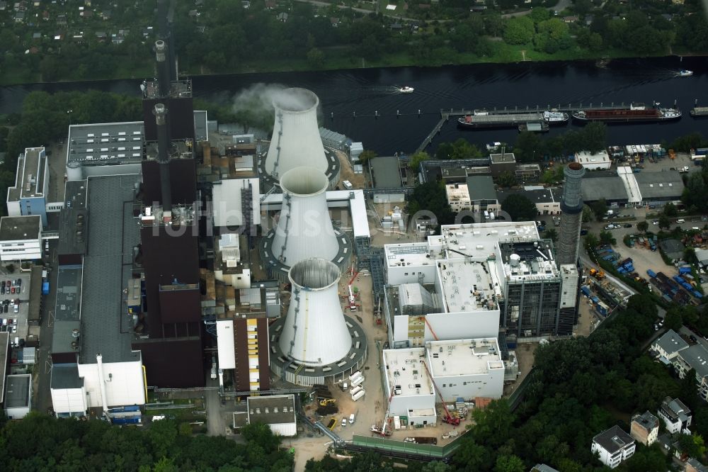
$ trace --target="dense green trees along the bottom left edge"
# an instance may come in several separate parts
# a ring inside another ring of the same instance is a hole
[[[4,421],[4,420],[3,420]],[[149,429],[33,412],[0,428],[4,471],[290,472],[292,454],[267,425],[241,429],[243,442],[193,435],[171,420]]]

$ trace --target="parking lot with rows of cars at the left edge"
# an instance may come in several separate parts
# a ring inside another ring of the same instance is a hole
[[[30,299],[30,272],[0,271],[0,331],[10,332],[10,342],[25,339],[28,334],[28,301]]]

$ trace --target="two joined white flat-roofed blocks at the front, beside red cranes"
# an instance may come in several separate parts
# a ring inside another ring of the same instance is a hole
[[[503,394],[504,363],[496,337],[386,349],[383,361],[389,414],[408,417],[411,426],[435,424],[435,403],[440,401],[496,399]]]

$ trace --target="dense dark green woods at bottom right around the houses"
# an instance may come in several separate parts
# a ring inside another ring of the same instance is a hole
[[[694,435],[679,439],[685,451],[702,458],[708,405],[697,396],[692,372],[686,380],[678,380],[646,354],[656,317],[656,305],[649,297],[633,296],[627,309],[590,337],[539,346],[535,369],[517,410],[511,412],[506,400],[473,410],[475,425],[459,439],[462,444],[452,462],[416,468],[426,472],[525,472],[536,463],[547,463],[563,472],[605,471],[590,451],[595,434],[612,425],[628,432],[631,415],[646,410],[656,413],[666,396],[680,398],[694,412]],[[392,470],[386,464],[379,466],[379,461],[375,456],[352,463],[324,459],[309,462],[307,470]],[[658,444],[638,445],[634,456],[616,470],[665,472],[670,462]]]

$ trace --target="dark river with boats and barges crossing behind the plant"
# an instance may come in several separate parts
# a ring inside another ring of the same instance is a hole
[[[693,77],[675,77],[678,69],[691,69]],[[688,111],[708,90],[706,57],[613,60],[607,67],[595,62],[522,62],[450,67],[399,67],[350,69],[330,72],[283,72],[194,77],[195,97],[230,103],[234,96],[255,84],[284,84],[314,91],[321,101],[322,124],[362,141],[379,155],[411,152],[440,119],[441,108],[535,108],[568,103],[629,103],[652,101],[662,106],[675,102],[683,111],[678,121],[661,124],[613,125],[608,143],[653,144],[700,131],[708,135],[708,120],[691,118]],[[412,94],[396,91],[411,86]],[[26,94],[100,89],[139,94],[139,81],[27,84],[0,88],[0,113],[19,111]],[[418,116],[418,110],[421,115]],[[333,113],[333,118],[331,117]],[[356,118],[353,118],[356,113]],[[379,118],[375,118],[375,113]],[[396,114],[401,113],[400,117]],[[550,135],[574,128],[552,128]],[[443,126],[430,151],[439,142],[464,137],[484,146],[491,141],[513,142],[516,130],[460,130],[455,120]]]

